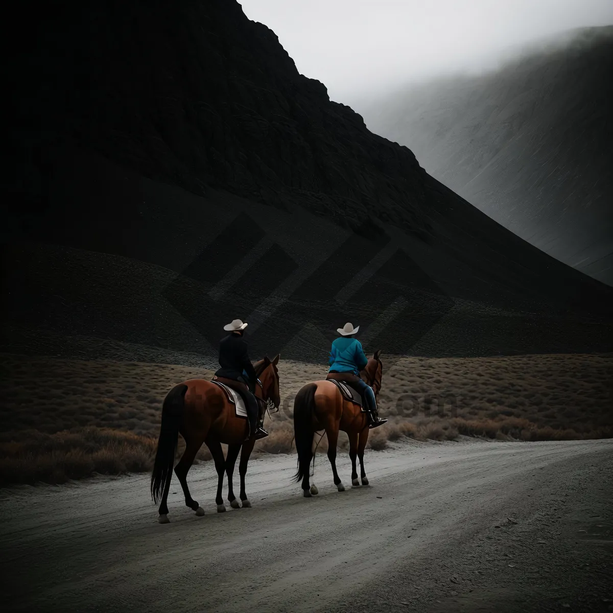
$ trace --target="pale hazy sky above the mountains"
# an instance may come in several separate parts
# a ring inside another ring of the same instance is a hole
[[[613,0],[238,0],[338,102],[480,70],[509,48],[613,24]]]

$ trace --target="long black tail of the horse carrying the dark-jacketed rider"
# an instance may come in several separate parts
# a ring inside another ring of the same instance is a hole
[[[170,485],[170,479],[172,479],[172,467],[175,464],[175,453],[179,440],[179,424],[183,416],[187,389],[188,386],[181,383],[173,387],[164,398],[158,451],[155,454],[153,473],[151,474],[151,498],[156,504],[162,497],[166,485]]]

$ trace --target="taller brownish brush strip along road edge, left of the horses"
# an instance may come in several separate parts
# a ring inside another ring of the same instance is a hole
[[[64,483],[99,474],[151,470],[157,441],[108,428],[77,428],[53,435],[30,430],[0,443],[0,485]]]

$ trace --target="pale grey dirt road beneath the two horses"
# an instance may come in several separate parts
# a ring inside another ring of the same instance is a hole
[[[613,441],[397,443],[366,455],[370,486],[337,492],[326,457],[305,499],[295,456],[249,466],[251,509],[196,517],[148,476],[3,492],[10,611],[607,611]],[[237,479],[235,479],[237,481]],[[4,608],[6,611],[7,608]]]

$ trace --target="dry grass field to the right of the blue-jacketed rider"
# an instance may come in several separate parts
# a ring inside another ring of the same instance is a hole
[[[381,414],[415,438],[613,436],[612,354],[402,358],[386,375]]]

